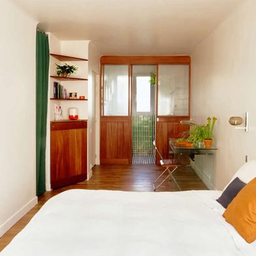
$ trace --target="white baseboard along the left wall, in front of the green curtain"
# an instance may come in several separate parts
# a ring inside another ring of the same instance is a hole
[[[27,204],[25,204],[18,212],[16,212],[12,217],[7,219],[3,225],[0,226],[0,237],[5,234],[17,221],[19,221],[29,210],[31,210],[37,204],[37,197],[31,199]]]

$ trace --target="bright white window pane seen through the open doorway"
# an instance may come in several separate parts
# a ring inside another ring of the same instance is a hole
[[[136,112],[150,112],[150,76],[136,77]]]

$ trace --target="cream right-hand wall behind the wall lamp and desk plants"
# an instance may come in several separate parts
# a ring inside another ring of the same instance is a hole
[[[217,189],[229,182],[245,157],[256,159],[256,1],[244,1],[191,55],[192,117],[216,125]],[[249,112],[249,133],[229,125],[231,116]]]

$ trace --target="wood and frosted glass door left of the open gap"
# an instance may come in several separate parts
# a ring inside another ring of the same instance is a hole
[[[103,65],[101,80],[101,164],[132,161],[129,65]]]

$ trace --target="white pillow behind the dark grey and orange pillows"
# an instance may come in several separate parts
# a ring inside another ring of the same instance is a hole
[[[240,180],[242,180],[242,182],[246,184],[250,182],[253,178],[255,178],[256,177],[256,160],[251,160],[245,163],[244,165],[242,165],[242,167],[238,169],[238,171],[234,174],[234,176],[232,176],[232,179],[229,182],[229,184],[231,184],[232,180],[234,180],[236,177],[240,178]],[[226,185],[225,189],[229,184]]]

